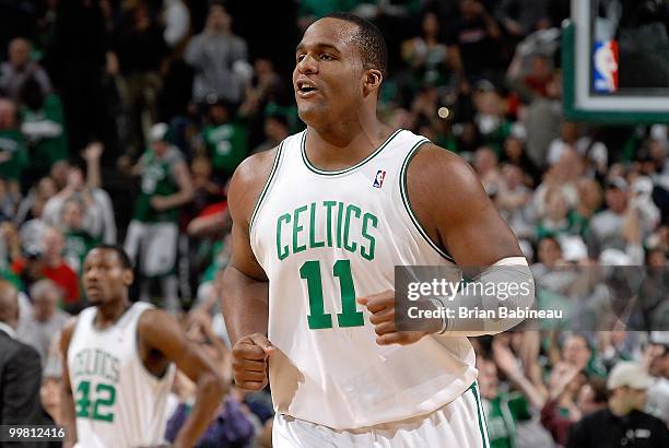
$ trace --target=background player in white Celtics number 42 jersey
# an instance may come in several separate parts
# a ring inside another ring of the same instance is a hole
[[[138,448],[163,444],[175,364],[198,385],[175,447],[192,447],[221,404],[225,385],[174,318],[131,304],[130,259],[101,245],[85,257],[82,282],[93,304],[63,329],[62,409],[67,447]]]

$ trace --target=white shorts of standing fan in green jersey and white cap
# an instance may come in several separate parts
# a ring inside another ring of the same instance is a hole
[[[178,236],[179,228],[175,223],[143,223],[132,220],[124,248],[133,262],[137,262],[141,248],[139,256],[143,275],[165,275],[174,269]]]

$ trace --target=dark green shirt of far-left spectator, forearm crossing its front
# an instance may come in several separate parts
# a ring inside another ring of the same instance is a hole
[[[21,121],[23,123],[37,123],[52,121],[60,125],[60,133],[56,137],[44,138],[37,141],[28,141],[31,153],[31,166],[35,168],[48,169],[54,163],[67,160],[68,138],[66,134],[64,113],[60,98],[57,95],[47,95],[44,107],[39,110],[21,110]]]

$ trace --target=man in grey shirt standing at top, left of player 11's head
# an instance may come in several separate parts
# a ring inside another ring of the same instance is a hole
[[[239,68],[246,63],[246,43],[232,33],[232,19],[222,3],[212,3],[204,31],[190,40],[184,59],[196,70],[196,103],[242,102],[245,78]]]

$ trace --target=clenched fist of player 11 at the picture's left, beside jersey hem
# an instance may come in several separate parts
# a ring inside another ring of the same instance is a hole
[[[265,334],[254,333],[239,339],[233,347],[235,385],[244,390],[262,390],[267,386],[268,359],[274,350]]]

